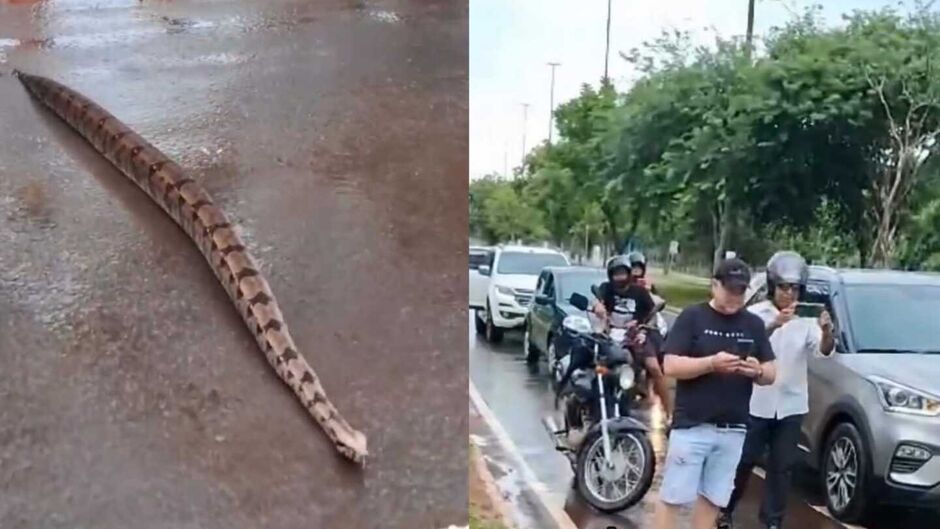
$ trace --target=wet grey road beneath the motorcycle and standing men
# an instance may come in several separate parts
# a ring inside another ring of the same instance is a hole
[[[667,314],[672,323],[674,316]],[[522,333],[507,333],[503,343],[488,344],[476,335],[470,319],[470,379],[481,397],[493,411],[496,419],[518,448],[532,469],[535,478],[547,490],[544,497],[564,511],[580,529],[645,529],[651,527],[658,485],[665,452],[666,439],[661,428],[658,409],[638,410],[638,416],[653,427],[651,438],[657,455],[657,472],[653,487],[636,506],[619,515],[605,515],[587,505],[571,488],[573,474],[564,456],[554,450],[551,440],[541,425],[540,418],[554,412],[552,391],[544,359],[535,372],[527,366],[522,355]],[[472,419],[472,417],[471,417]],[[560,419],[556,419],[560,420]],[[472,425],[471,425],[472,426]],[[473,428],[471,428],[472,430]],[[507,464],[508,466],[508,464]],[[517,480],[518,481],[518,480]],[[515,490],[518,484],[511,487]],[[757,521],[763,480],[750,480],[744,499],[735,515],[736,529],[761,529]],[[519,496],[523,496],[519,494]],[[523,518],[535,509],[532,499],[523,500],[520,508]],[[815,485],[815,477],[808,469],[800,469],[794,476],[794,488],[789,498],[786,529],[852,529],[824,513],[824,501]],[[815,507],[814,507],[815,506]],[[535,527],[535,525],[533,525]],[[885,510],[864,529],[935,529],[940,517],[932,513],[911,512],[903,509]]]

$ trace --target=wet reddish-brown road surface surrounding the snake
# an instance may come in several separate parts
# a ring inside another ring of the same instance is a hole
[[[466,523],[466,43],[460,1],[0,1],[0,527]],[[14,67],[239,223],[364,471]]]

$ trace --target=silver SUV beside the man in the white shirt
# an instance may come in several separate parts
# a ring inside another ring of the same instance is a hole
[[[766,296],[754,275],[748,304]],[[940,275],[810,267],[808,299],[836,324],[836,354],[809,361],[800,448],[829,511],[940,507]]]

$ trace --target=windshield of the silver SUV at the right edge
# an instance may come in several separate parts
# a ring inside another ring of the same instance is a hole
[[[940,285],[848,285],[859,352],[940,354]]]

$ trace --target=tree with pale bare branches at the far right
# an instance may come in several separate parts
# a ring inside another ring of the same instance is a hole
[[[781,95],[777,159],[802,160],[841,204],[862,261],[890,266],[923,165],[936,155],[940,98],[936,15],[856,13],[819,30],[802,20],[769,45],[768,83]],[[792,166],[791,166],[792,168]]]

